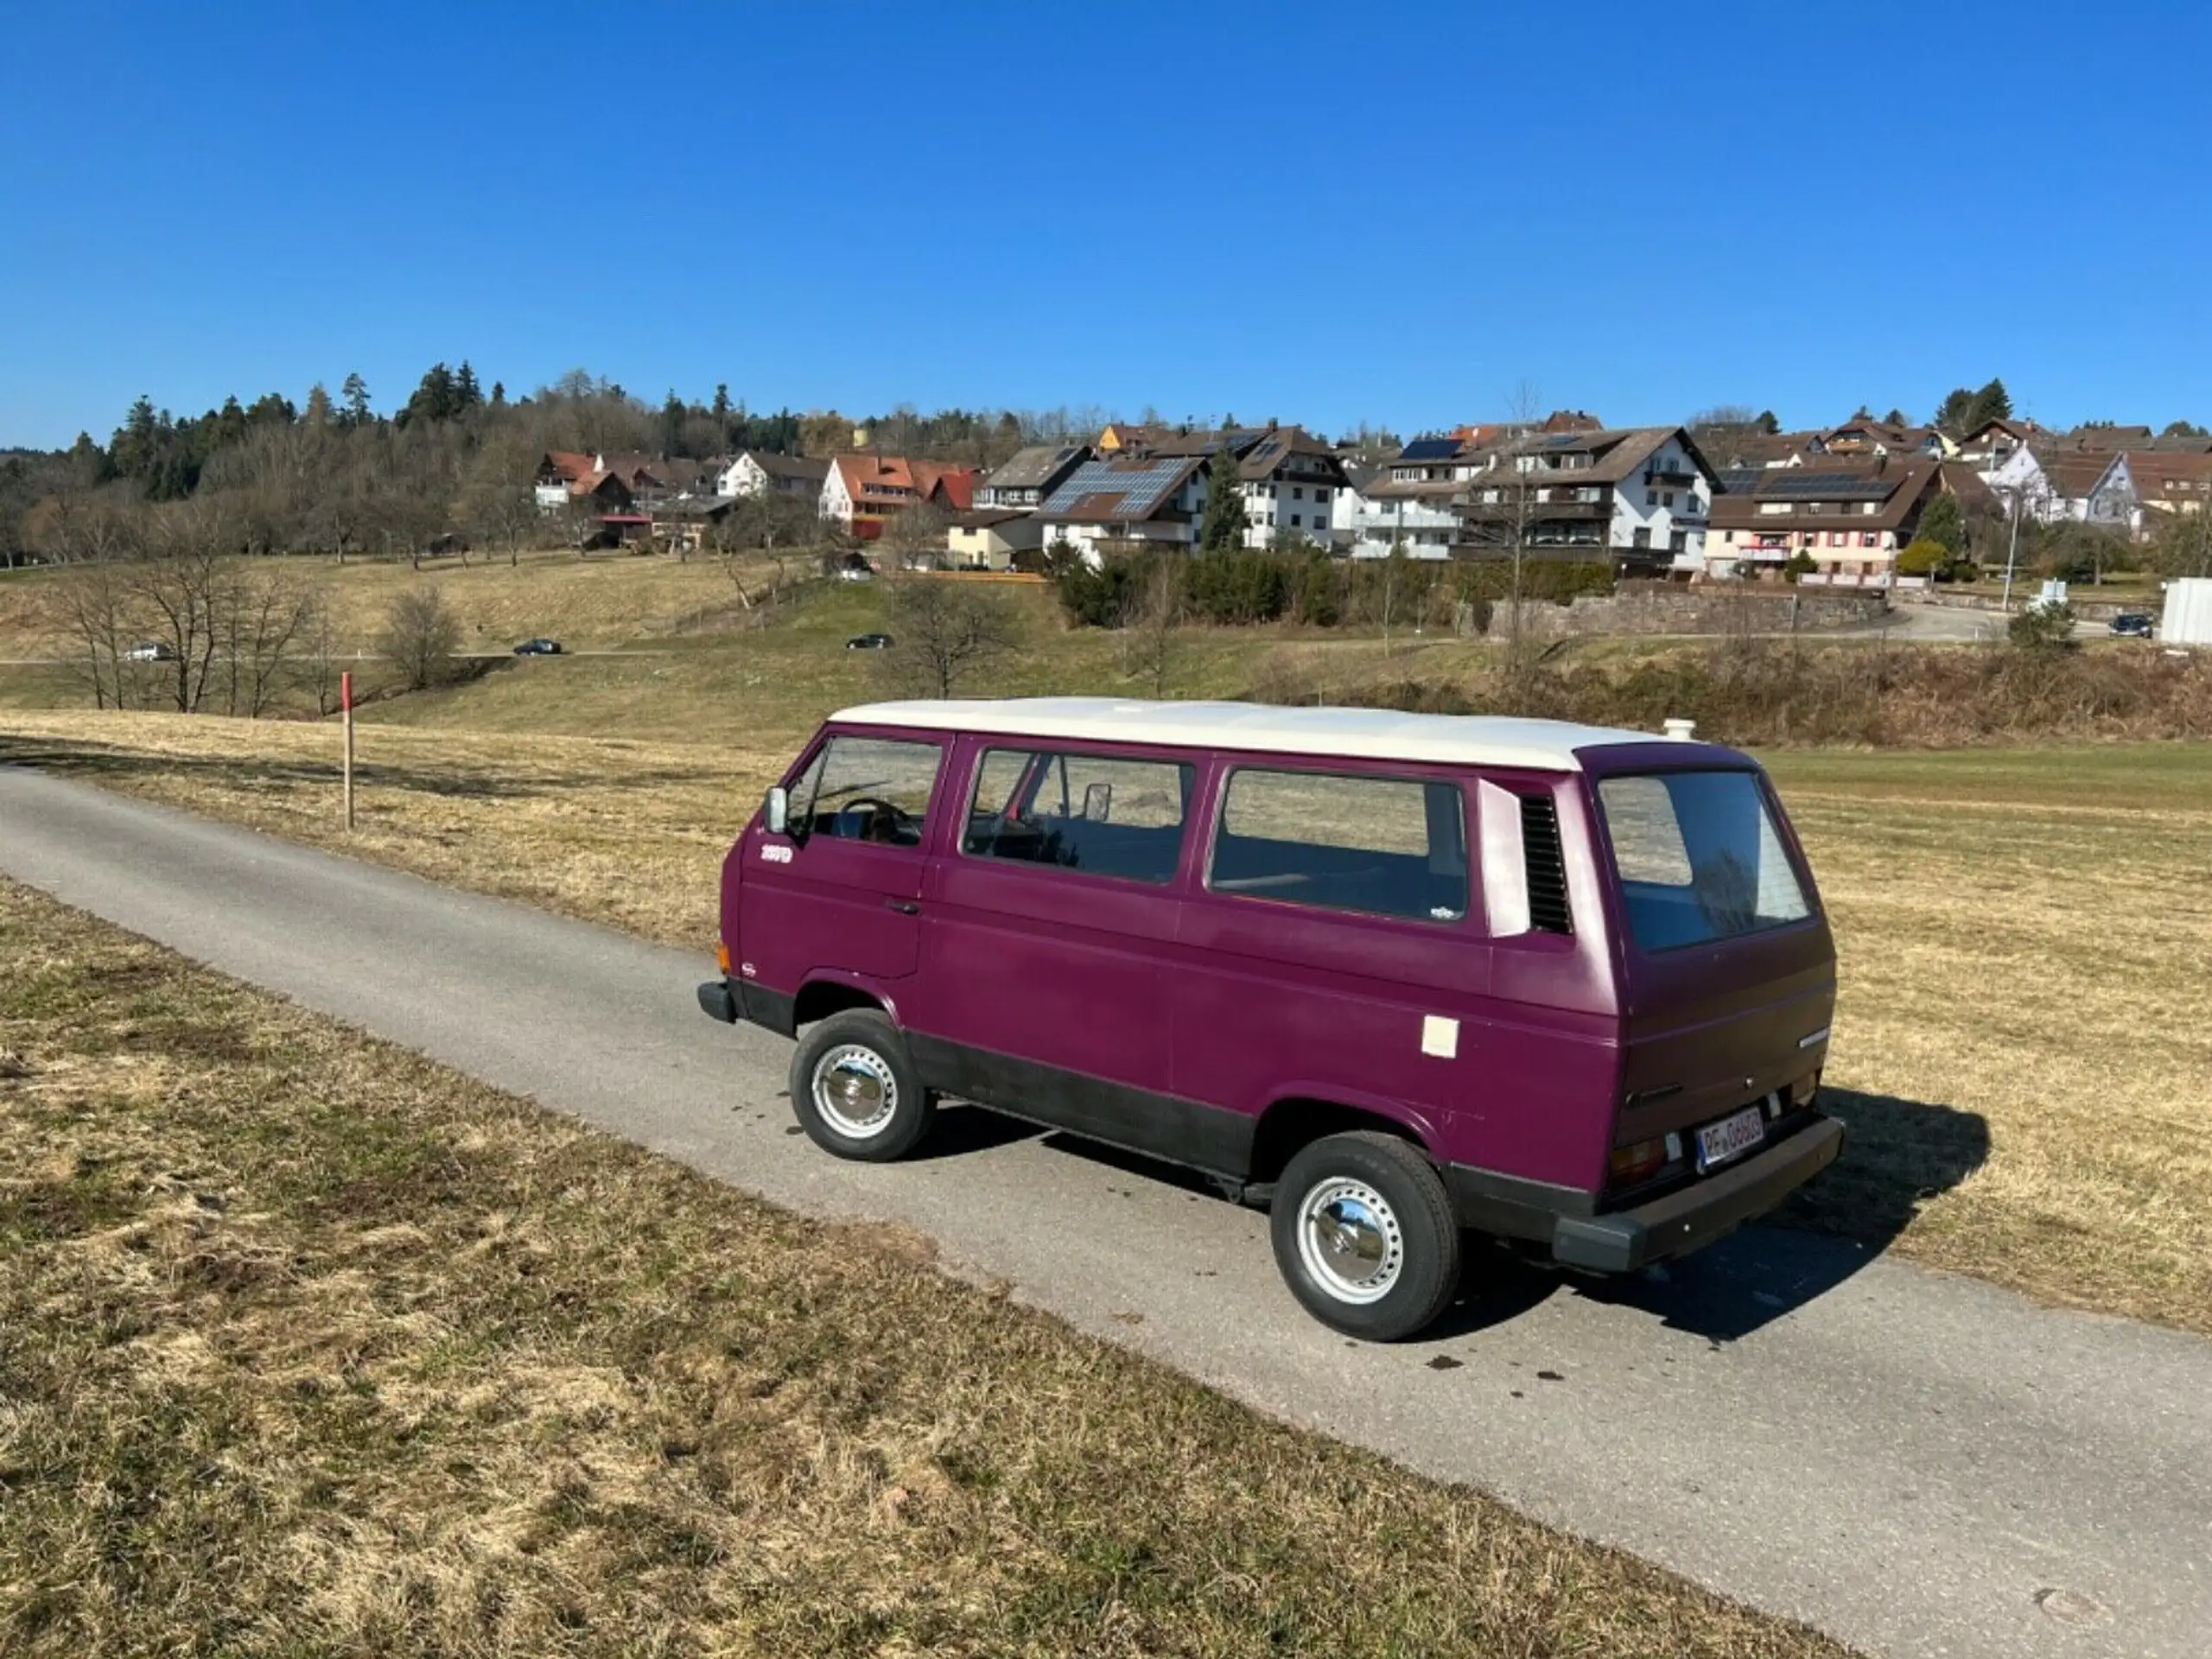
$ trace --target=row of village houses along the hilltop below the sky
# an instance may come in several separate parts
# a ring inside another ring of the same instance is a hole
[[[1347,557],[1599,560],[1626,575],[1900,582],[1898,553],[1942,495],[1975,515],[2073,518],[2143,535],[2154,513],[2212,498],[2212,438],[1993,420],[1966,438],[1858,414],[1796,434],[1606,427],[1582,409],[1420,436],[1385,460],[1267,422],[1113,422],[1093,442],[1035,445],[989,471],[867,449],[821,460],[743,453],[544,458],[538,498],[599,511],[617,533],[703,533],[745,498],[787,495],[856,540],[905,513],[942,524],[942,562],[1009,568],[1066,546],[1197,546],[1230,473],[1245,546]],[[933,542],[931,542],[933,546]],[[916,555],[916,540],[902,549]]]

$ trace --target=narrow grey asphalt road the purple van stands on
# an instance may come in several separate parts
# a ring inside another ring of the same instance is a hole
[[[1292,1422],[1885,1655],[2212,1652],[2212,1343],[1747,1230],[1666,1279],[1542,1274],[1358,1347],[1263,1217],[973,1108],[894,1168],[697,1013],[703,956],[0,768],[0,872],[776,1203],[973,1276]]]

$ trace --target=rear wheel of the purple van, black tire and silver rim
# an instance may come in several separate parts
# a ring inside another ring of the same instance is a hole
[[[1301,1148],[1276,1183],[1267,1230],[1292,1296],[1345,1336],[1413,1336],[1460,1287],[1451,1194],[1422,1150],[1396,1135],[1354,1130]]]

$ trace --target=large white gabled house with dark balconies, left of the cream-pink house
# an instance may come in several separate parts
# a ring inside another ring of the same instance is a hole
[[[1719,484],[1681,427],[1531,431],[1491,451],[1453,495],[1453,557],[1515,544],[1551,560],[1606,560],[1626,573],[1699,571]]]

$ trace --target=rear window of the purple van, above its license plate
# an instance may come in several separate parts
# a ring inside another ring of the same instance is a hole
[[[1708,945],[1812,914],[1750,772],[1601,779],[1597,801],[1639,949]]]

